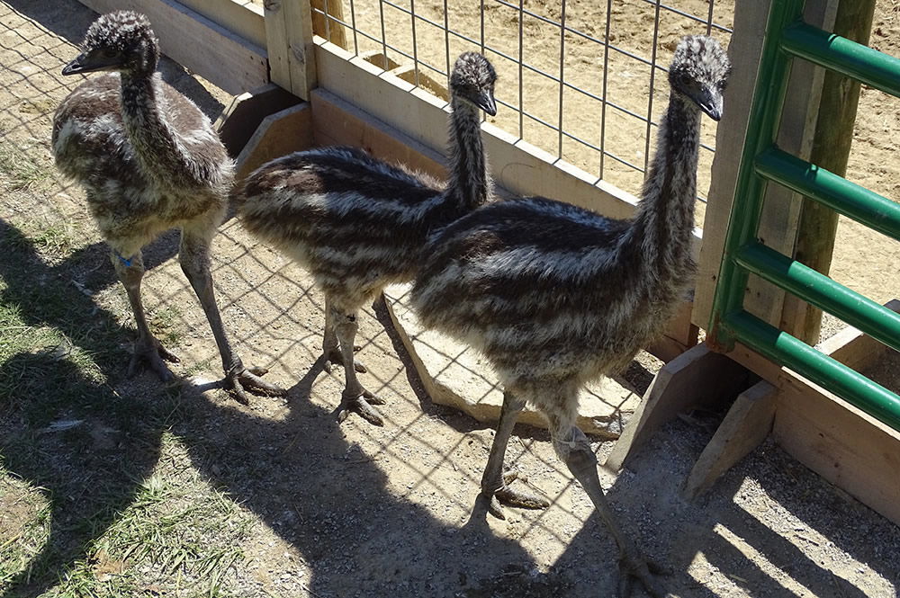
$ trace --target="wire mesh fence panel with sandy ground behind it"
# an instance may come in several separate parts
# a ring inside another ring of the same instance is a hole
[[[355,55],[381,67],[410,65],[410,83],[445,98],[455,56],[481,51],[500,74],[492,121],[635,194],[665,108],[666,65],[677,40],[705,33],[726,45],[734,15],[733,0],[343,0],[339,11],[332,8],[338,2],[313,9],[329,13],[326,37],[346,27]],[[714,138],[706,120],[701,190]]]

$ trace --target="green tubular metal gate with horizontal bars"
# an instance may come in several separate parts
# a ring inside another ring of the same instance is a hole
[[[791,156],[775,144],[788,75],[796,58],[900,97],[900,59],[810,26],[803,22],[803,6],[804,0],[772,3],[716,284],[710,341],[724,350],[742,343],[900,430],[900,397],[743,308],[752,272],[900,351],[900,315],[757,239],[769,182],[900,239],[900,204]]]

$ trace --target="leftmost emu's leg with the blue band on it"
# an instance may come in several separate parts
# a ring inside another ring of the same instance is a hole
[[[125,260],[115,251],[110,252],[112,265],[115,272],[119,276],[119,280],[125,292],[128,293],[128,300],[131,304],[131,311],[134,312],[134,322],[138,326],[138,340],[134,343],[134,353],[131,353],[131,360],[128,363],[128,375],[134,376],[146,364],[150,370],[156,372],[157,376],[164,382],[168,382],[175,378],[172,372],[166,367],[166,361],[178,362],[174,353],[169,353],[166,348],[150,333],[147,326],[147,316],[144,314],[144,305],[140,300],[140,281],[144,277],[144,260],[140,252],[134,254],[130,259]]]

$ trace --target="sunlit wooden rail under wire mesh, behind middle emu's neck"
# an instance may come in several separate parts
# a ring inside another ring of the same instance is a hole
[[[446,102],[321,38],[316,38],[316,61],[321,88],[443,154]],[[509,192],[569,201],[611,218],[634,215],[637,199],[615,185],[597,180],[491,123],[482,123],[482,138],[491,173]],[[695,230],[695,258],[699,242],[699,230]]]

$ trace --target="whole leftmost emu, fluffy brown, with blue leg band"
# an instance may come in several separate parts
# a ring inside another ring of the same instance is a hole
[[[194,103],[155,72],[157,40],[142,14],[103,14],[87,30],[84,52],[63,75],[110,71],[86,80],[53,117],[53,155],[60,171],[85,188],[87,204],[111,249],[138,326],[129,374],[147,364],[163,380],[178,361],[150,333],[140,300],[140,248],[169,228],[181,229],[179,260],[197,293],[222,358],[227,383],[283,394],[247,370],[231,350],[216,307],[209,246],[228,205],[231,159]]]

